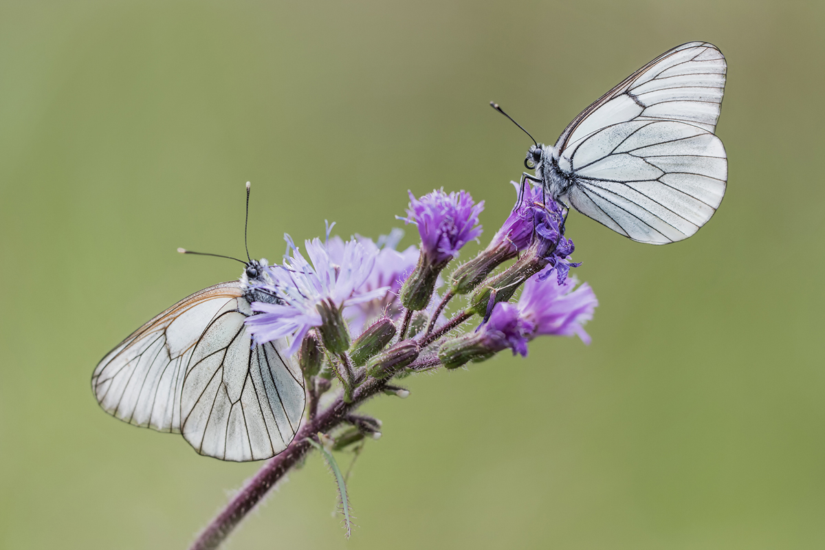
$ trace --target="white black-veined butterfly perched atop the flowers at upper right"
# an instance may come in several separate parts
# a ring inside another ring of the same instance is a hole
[[[577,115],[555,145],[534,139],[524,164],[535,176],[523,172],[521,189],[538,182],[554,200],[634,241],[691,237],[728,181],[714,135],[726,71],[724,55],[707,42],[658,56]]]

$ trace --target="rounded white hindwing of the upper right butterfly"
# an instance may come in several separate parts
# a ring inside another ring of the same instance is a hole
[[[575,209],[651,244],[696,233],[719,207],[728,179],[719,138],[672,120],[610,125],[574,143],[562,162]]]

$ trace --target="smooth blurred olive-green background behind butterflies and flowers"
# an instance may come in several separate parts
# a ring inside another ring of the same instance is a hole
[[[259,468],[101,411],[101,356],[187,294],[406,191],[466,189],[486,235],[542,141],[672,46],[729,64],[728,194],[695,237],[572,214],[601,305],[409,380],[350,482],[317,457],[228,548],[823,548],[825,3],[2,2],[0,546],[186,548]],[[414,242],[408,232],[406,243]],[[483,241],[484,242],[484,241]],[[464,257],[469,256],[472,247]],[[347,463],[347,458],[342,458]]]

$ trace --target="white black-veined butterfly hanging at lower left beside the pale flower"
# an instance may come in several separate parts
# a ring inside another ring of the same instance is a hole
[[[248,190],[247,183],[247,212]],[[97,364],[92,391],[106,412],[180,433],[198,453],[222,460],[286,449],[304,414],[304,378],[283,353],[285,339],[252,346],[243,323],[250,303],[276,299],[250,286],[266,280],[266,260],[242,263],[240,280],[182,299]]]

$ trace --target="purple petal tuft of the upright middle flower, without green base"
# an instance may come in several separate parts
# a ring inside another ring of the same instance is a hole
[[[443,189],[416,199],[409,191],[410,205],[406,223],[415,223],[421,235],[422,251],[431,264],[436,266],[458,256],[467,242],[481,235],[479,214],[484,201],[475,204],[466,191],[447,195]]]

